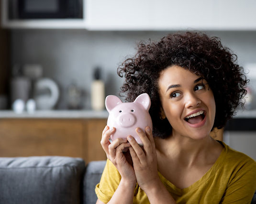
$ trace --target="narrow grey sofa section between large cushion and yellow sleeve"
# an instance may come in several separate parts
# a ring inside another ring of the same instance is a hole
[[[84,204],[96,203],[95,186],[100,182],[105,164],[106,161],[91,161],[88,163],[84,177]]]

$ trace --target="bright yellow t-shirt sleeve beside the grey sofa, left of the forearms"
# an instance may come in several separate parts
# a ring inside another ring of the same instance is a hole
[[[103,203],[108,203],[115,193],[119,183],[121,181],[121,175],[112,164],[110,160],[107,160],[104,171],[101,175],[100,183],[96,185],[95,193]]]

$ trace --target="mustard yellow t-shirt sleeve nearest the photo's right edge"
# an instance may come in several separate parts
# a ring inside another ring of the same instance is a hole
[[[256,162],[251,158],[230,178],[222,204],[250,204],[256,190]]]

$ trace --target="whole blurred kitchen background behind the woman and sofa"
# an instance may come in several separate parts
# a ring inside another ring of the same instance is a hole
[[[256,160],[256,1],[59,2],[1,0],[0,156],[104,159],[104,99],[119,93],[118,65],[141,40],[198,30],[218,36],[248,73],[245,110],[223,140]]]

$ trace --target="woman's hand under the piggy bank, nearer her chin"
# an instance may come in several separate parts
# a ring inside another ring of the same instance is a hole
[[[146,193],[147,189],[156,187],[161,182],[157,172],[156,146],[152,130],[149,127],[145,128],[145,133],[140,128],[137,128],[136,132],[143,142],[144,150],[132,136],[128,136],[127,139],[131,144],[129,150],[133,159],[137,183]]]

